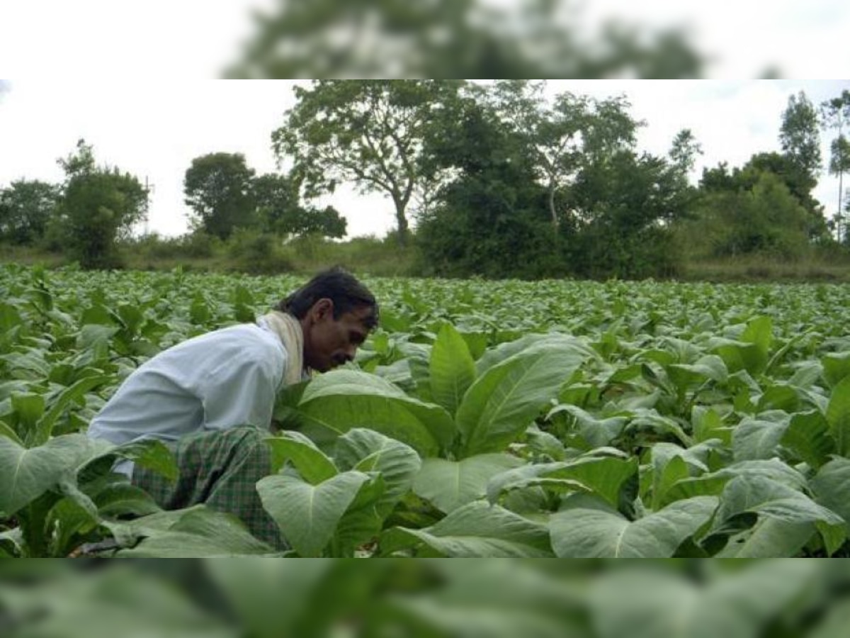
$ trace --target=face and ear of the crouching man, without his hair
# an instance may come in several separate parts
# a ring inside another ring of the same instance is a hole
[[[331,299],[317,301],[305,317],[304,362],[307,366],[327,372],[352,361],[358,346],[369,334],[365,321],[371,313],[369,306],[362,306],[334,319]]]

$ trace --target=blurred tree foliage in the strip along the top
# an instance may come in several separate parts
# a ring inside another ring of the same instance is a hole
[[[498,4],[499,6],[494,6]],[[226,77],[701,77],[679,30],[582,20],[570,0],[278,0]]]

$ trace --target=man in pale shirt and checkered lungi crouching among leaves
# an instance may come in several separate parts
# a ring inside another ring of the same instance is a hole
[[[92,419],[88,436],[119,445],[165,441],[177,458],[178,481],[131,461],[116,471],[167,510],[205,503],[284,547],[255,487],[270,472],[263,438],[275,396],[312,370],[354,359],[377,314],[375,297],[354,276],[321,272],[256,324],[202,334],[144,362]]]

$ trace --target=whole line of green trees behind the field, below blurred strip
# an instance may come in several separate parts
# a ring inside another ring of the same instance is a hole
[[[184,175],[193,232],[179,245],[227,242],[285,268],[275,255],[293,238],[315,245],[310,237],[345,235],[343,214],[309,202],[348,184],[393,202],[392,235],[416,255],[420,275],[658,277],[694,259],[847,252],[844,217],[826,219],[813,188],[824,168],[821,134],[836,131],[830,173],[850,170],[850,91],[821,105],[789,96],[776,114],[781,151],[740,167],[722,162],[692,185],[701,150],[690,130],[653,155],[638,149],[645,122],[625,97],[549,97],[545,88],[525,80],[297,87],[271,135],[286,171],[257,175],[238,154],[196,157]],[[144,187],[95,166],[84,143],[62,164],[63,185],[20,181],[0,193],[2,239],[61,248],[86,267],[115,265],[115,246],[144,217]]]

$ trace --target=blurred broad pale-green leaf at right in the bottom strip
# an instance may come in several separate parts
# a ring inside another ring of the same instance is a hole
[[[707,583],[684,572],[635,566],[592,584],[599,638],[755,638],[817,585],[817,561],[752,561],[716,570]]]

